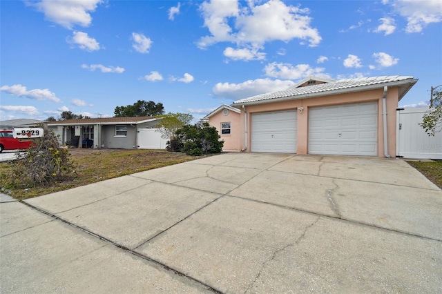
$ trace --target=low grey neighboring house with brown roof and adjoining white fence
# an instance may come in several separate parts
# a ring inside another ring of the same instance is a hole
[[[79,141],[80,148],[164,149],[167,140],[153,129],[157,123],[155,117],[106,117],[48,121],[47,126],[60,144]]]

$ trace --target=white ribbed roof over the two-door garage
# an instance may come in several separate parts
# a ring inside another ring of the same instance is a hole
[[[398,86],[399,100],[405,95],[418,80],[412,76],[383,76],[383,77],[361,77],[356,79],[340,79],[325,84],[316,84],[305,87],[291,87],[287,90],[269,92],[262,95],[234,101],[232,106],[243,104],[262,104],[268,102],[285,101],[291,99],[307,99],[326,95],[343,94],[346,92],[358,92],[373,90],[384,86]]]

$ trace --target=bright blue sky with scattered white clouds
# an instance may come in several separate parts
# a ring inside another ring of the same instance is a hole
[[[331,79],[411,75],[400,106],[442,84],[442,1],[0,1],[0,119],[112,117],[221,104]]]

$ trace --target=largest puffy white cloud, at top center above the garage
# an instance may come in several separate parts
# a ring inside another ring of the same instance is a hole
[[[311,28],[308,9],[286,6],[280,0],[270,0],[262,5],[247,1],[247,7],[240,8],[238,0],[204,1],[200,6],[204,26],[211,35],[202,37],[200,48],[214,43],[229,41],[260,47],[265,42],[291,39],[307,40],[309,46],[317,46],[321,37],[316,28]]]

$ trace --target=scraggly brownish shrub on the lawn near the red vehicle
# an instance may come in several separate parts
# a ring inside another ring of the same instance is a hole
[[[68,149],[60,147],[53,131],[45,131],[44,137],[36,139],[26,152],[17,153],[16,158],[10,162],[9,175],[15,187],[50,184],[74,170]]]

